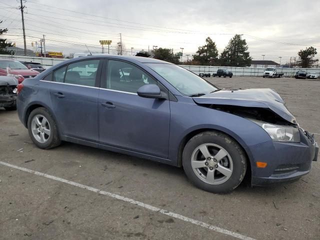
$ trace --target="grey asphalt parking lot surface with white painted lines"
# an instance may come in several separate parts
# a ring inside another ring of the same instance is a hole
[[[275,89],[320,141],[319,80],[207,79]],[[320,239],[319,161],[294,183],[212,194],[181,168],[67,142],[39,149],[3,108],[0,161],[12,164],[0,164],[0,239]]]

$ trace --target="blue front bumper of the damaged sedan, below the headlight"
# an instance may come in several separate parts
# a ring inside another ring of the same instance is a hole
[[[300,129],[301,142],[267,141],[247,147],[251,160],[251,185],[264,185],[297,180],[311,169],[317,160],[318,145],[314,136]],[[267,162],[265,168],[256,161]]]

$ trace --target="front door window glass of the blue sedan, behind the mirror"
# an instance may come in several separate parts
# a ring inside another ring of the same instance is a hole
[[[105,88],[136,93],[145,84],[157,84],[157,81],[135,65],[108,60]]]

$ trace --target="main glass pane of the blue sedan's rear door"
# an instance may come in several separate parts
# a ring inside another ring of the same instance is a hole
[[[94,86],[99,60],[78,61],[68,65],[64,82],[83,86]]]

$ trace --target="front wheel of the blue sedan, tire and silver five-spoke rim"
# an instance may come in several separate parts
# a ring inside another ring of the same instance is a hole
[[[211,157],[209,160],[205,160],[204,154],[199,150],[199,147],[203,149],[203,146],[208,149],[207,155]],[[219,149],[227,155],[214,162]],[[224,168],[221,163],[225,164]],[[194,167],[195,164],[200,164],[200,167]],[[241,146],[228,135],[218,131],[204,131],[193,136],[186,143],[182,153],[182,165],[188,179],[198,188],[213,193],[227,193],[243,180],[247,159]],[[210,175],[213,176],[213,181],[206,179],[209,167],[212,168],[210,172],[213,175]],[[228,169],[226,175],[218,171],[225,168]]]

